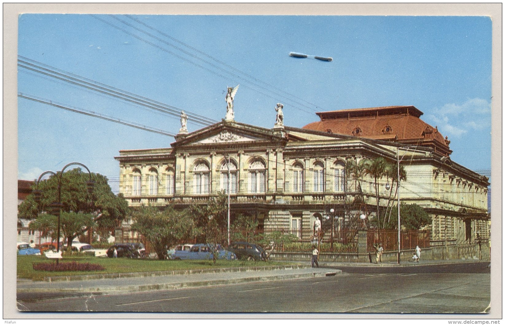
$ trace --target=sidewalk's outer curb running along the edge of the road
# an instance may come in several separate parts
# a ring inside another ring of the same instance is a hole
[[[238,278],[238,279],[220,279],[220,280],[209,280],[209,281],[193,281],[193,282],[176,282],[176,283],[162,283],[162,284],[152,284],[152,285],[138,285],[138,286],[121,286],[121,287],[93,287],[93,288],[18,288],[17,292],[66,292],[66,293],[129,293],[129,292],[142,292],[142,291],[152,291],[152,290],[177,290],[186,288],[196,288],[196,287],[213,287],[213,286],[223,286],[223,285],[233,285],[249,282],[265,282],[265,281],[276,281],[276,280],[290,280],[290,279],[307,279],[307,278],[322,278],[326,276],[341,275],[341,270],[335,270],[335,272],[328,273],[323,272],[311,272],[311,273],[301,273],[301,274],[289,274],[289,275],[277,275],[277,276],[257,276],[248,278]]]

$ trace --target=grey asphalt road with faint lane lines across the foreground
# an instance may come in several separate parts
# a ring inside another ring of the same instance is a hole
[[[438,273],[408,273],[407,267],[376,273],[376,268],[366,267],[366,273],[358,273],[355,268],[351,271],[356,273],[325,278],[122,295],[90,294],[31,302],[22,299],[18,301],[18,308],[32,311],[478,313],[490,302],[490,275],[487,264],[483,268],[480,264],[431,265],[432,270],[442,266]],[[442,270],[449,266],[452,272]],[[422,271],[424,267],[417,270]]]

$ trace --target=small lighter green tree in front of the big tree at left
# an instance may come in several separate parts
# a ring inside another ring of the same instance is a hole
[[[95,227],[94,215],[90,213],[62,212],[60,215],[61,234],[67,239],[67,250],[72,251],[72,241],[90,227]],[[58,217],[52,214],[40,214],[29,225],[30,229],[42,231],[45,237],[58,237]]]

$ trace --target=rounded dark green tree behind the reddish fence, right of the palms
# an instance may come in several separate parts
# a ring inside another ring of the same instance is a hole
[[[391,214],[398,215],[397,206],[391,207]],[[426,213],[426,211],[418,204],[400,204],[400,224],[401,227],[405,227],[406,230],[419,230],[421,227],[429,225],[431,223],[431,217]],[[397,230],[398,220],[396,218],[390,219],[386,223],[386,229]]]

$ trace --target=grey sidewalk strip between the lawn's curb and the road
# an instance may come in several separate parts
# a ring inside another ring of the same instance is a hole
[[[17,292],[66,292],[66,293],[127,293],[150,290],[174,290],[209,287],[248,282],[317,278],[342,274],[330,268],[286,268],[248,270],[245,272],[220,272],[183,274],[155,277],[94,279],[79,281],[18,281]],[[21,280],[21,279],[20,279]]]

